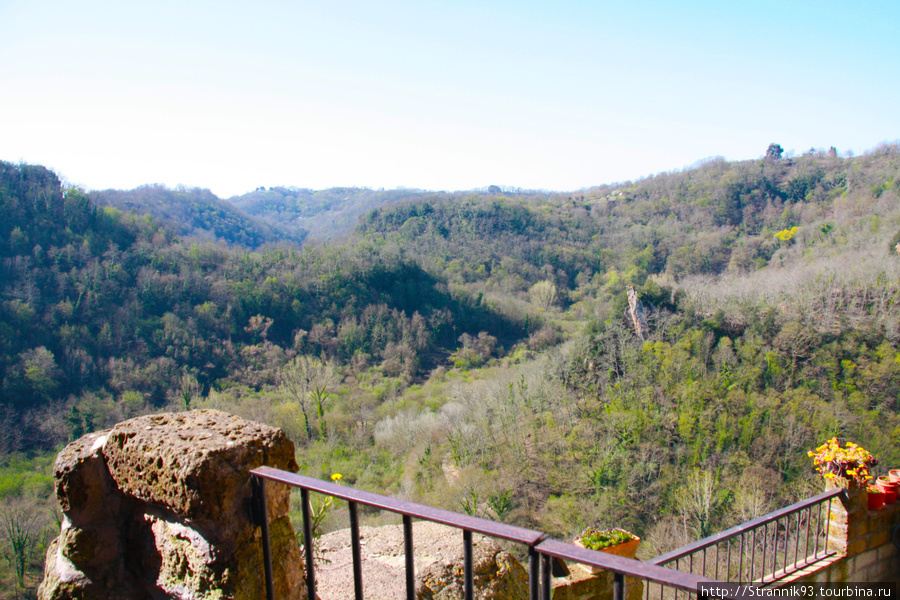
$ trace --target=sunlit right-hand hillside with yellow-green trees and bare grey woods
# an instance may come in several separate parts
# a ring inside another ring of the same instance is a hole
[[[658,551],[808,495],[805,451],[828,437],[900,464],[898,171],[896,147],[811,152],[370,213],[365,239],[490,306],[587,321],[542,362],[382,421],[377,443],[426,497],[449,455],[468,466],[459,506],[559,535],[627,524]]]

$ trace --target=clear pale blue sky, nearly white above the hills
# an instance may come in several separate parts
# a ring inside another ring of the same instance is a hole
[[[69,185],[571,191],[900,139],[900,2],[0,0],[0,160]]]

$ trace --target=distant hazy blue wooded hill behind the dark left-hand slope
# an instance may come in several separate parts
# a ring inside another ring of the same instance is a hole
[[[90,198],[100,206],[111,206],[136,215],[152,215],[157,222],[174,228],[180,235],[221,240],[250,249],[279,242],[300,244],[306,237],[302,228],[264,222],[200,188],[173,190],[162,185],[144,185],[127,191],[95,191],[91,192]]]

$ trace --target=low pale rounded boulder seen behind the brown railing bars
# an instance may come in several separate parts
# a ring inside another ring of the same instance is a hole
[[[475,597],[479,600],[520,600],[528,597],[528,573],[491,538],[472,536]],[[403,527],[360,527],[364,596],[367,600],[404,597]],[[449,600],[463,595],[463,534],[459,529],[429,522],[413,523],[416,597]],[[316,592],[320,600],[343,600],[353,581],[349,530],[319,538]]]

